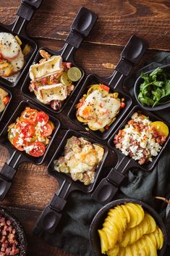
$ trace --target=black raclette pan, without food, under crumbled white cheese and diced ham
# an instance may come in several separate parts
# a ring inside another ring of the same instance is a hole
[[[149,117],[151,121],[162,121],[163,123],[166,123],[160,117],[154,115],[153,112],[148,112],[146,110],[143,110],[143,108],[141,108],[140,106],[135,106],[129,112],[128,116],[123,120],[121,125],[119,125],[116,131],[112,134],[111,138],[109,139],[109,146],[112,150],[114,150],[114,152],[116,152],[118,161],[115,168],[112,168],[109,175],[106,178],[103,178],[103,180],[98,184],[98,186],[92,194],[93,199],[95,199],[96,201],[100,202],[103,205],[106,205],[106,203],[110,202],[111,199],[114,197],[114,195],[119,189],[119,186],[125,178],[125,174],[129,169],[132,170],[135,168],[140,168],[141,170],[144,171],[153,170],[159,158],[161,157],[161,154],[163,153],[164,149],[166,149],[166,145],[169,143],[170,140],[169,134],[169,136],[166,139],[166,142],[163,144],[161,151],[158,153],[158,155],[156,157],[153,157],[152,162],[145,163],[144,165],[139,165],[138,162],[133,160],[131,157],[122,154],[122,152],[119,149],[116,149],[116,146],[114,145],[114,136],[117,133],[119,133],[120,129],[124,128],[127,122],[131,119],[130,117],[133,115],[134,112],[141,112],[141,114]],[[169,123],[166,123],[166,125],[168,125],[170,131]]]

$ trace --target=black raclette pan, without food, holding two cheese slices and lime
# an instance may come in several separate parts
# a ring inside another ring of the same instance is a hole
[[[59,51],[51,51],[50,49],[47,49],[45,47],[41,48],[45,51],[48,51],[49,54],[52,55],[60,55],[64,62],[72,62],[72,65],[74,67],[77,67],[75,63],[75,51],[79,49],[80,45],[82,44],[82,41],[87,37],[92,30],[93,26],[95,25],[96,20],[98,19],[98,15],[96,15],[94,12],[91,12],[89,9],[86,9],[85,7],[82,7],[80,11],[77,13],[74,22],[71,25],[71,30],[69,32],[69,36],[66,38],[66,43],[64,44],[64,47]],[[41,50],[40,49],[40,50]],[[38,53],[35,56],[35,59],[33,62],[38,63],[39,60],[42,59],[41,54]],[[27,98],[31,99],[33,102],[36,102],[36,104],[40,104],[42,107],[44,107],[48,112],[52,112],[54,114],[61,112],[66,104],[69,102],[70,97],[75,92],[76,88],[81,83],[82,79],[84,78],[85,72],[82,70],[82,68],[79,67],[82,73],[82,77],[77,82],[74,82],[75,88],[72,91],[69,96],[67,96],[67,99],[64,100],[64,104],[62,104],[60,110],[53,110],[50,105],[43,104],[36,98],[34,92],[30,92],[29,85],[30,85],[30,75],[27,74],[27,77],[25,78],[25,81],[23,83],[23,86],[21,88],[22,94],[24,94]]]

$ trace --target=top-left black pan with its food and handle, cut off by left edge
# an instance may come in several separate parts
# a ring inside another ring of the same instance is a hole
[[[26,28],[42,1],[22,0],[14,22],[0,23],[0,81],[4,86],[17,86],[35,55],[38,46]]]

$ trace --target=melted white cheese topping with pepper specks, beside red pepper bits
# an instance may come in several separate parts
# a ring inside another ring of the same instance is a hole
[[[95,90],[85,99],[84,104],[77,110],[77,114],[87,120],[95,130],[104,128],[111,123],[120,109],[120,99],[111,94],[103,96],[101,91]]]

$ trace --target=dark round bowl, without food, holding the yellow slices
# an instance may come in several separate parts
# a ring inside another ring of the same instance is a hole
[[[153,218],[156,220],[156,224],[158,225],[159,228],[161,228],[161,231],[163,233],[164,241],[163,241],[163,247],[161,250],[158,250],[158,256],[163,256],[165,250],[166,250],[166,228],[163,224],[163,221],[161,220],[161,217],[158,215],[156,210],[153,210],[152,207],[149,205],[146,205],[144,202],[141,202],[139,200],[135,199],[118,199],[112,202],[109,202],[109,204],[105,205],[104,207],[101,208],[101,210],[98,211],[98,213],[95,215],[95,218],[93,218],[93,221],[90,226],[90,244],[93,249],[93,255],[94,256],[103,256],[101,253],[101,242],[98,236],[98,228],[102,228],[102,224],[107,216],[107,212],[109,209],[116,207],[116,205],[122,205],[126,204],[127,202],[133,202],[138,205],[141,205],[143,209],[150,213],[150,215],[153,216]]]

